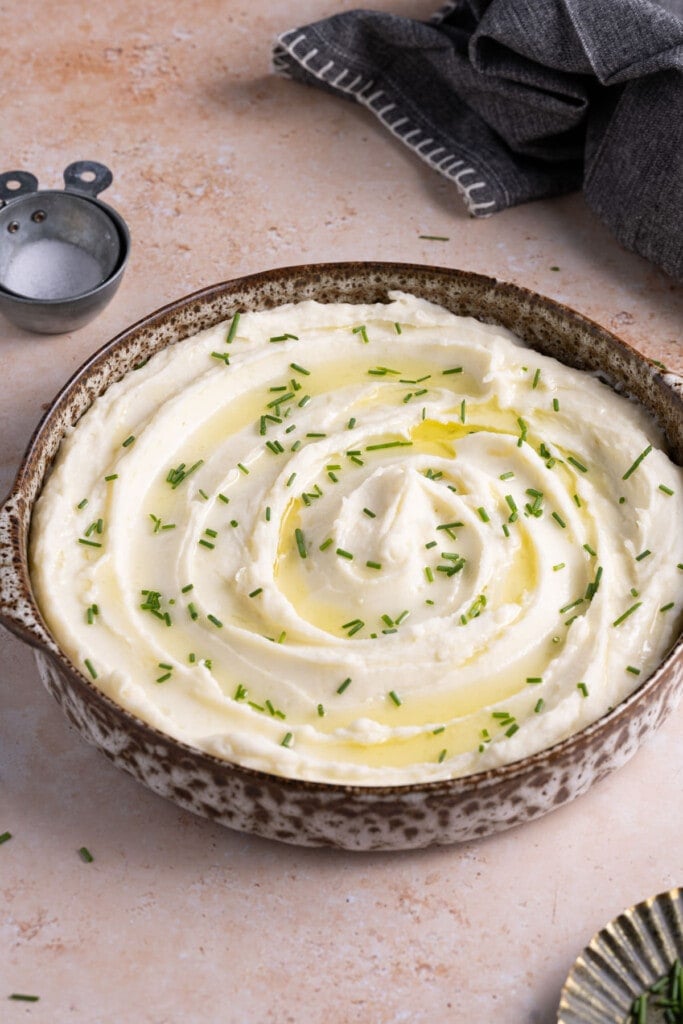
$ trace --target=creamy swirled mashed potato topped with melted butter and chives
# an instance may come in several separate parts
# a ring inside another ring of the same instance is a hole
[[[681,622],[683,474],[636,404],[402,293],[245,312],[109,388],[37,504],[75,665],[219,758],[361,785],[582,729]]]

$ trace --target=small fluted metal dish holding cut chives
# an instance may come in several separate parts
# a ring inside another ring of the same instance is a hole
[[[677,958],[683,959],[683,889],[630,907],[593,936],[564,983],[557,1024],[625,1024],[634,999]]]

